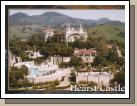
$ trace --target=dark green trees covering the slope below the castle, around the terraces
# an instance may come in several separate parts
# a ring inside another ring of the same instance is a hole
[[[96,32],[95,32],[96,33]],[[119,57],[117,54],[116,48],[108,48],[108,45],[115,45],[119,48],[122,53],[122,57]],[[123,42],[114,41],[114,40],[106,40],[103,36],[88,37],[86,42],[82,40],[75,40],[74,42],[66,44],[64,42],[63,34],[58,33],[53,37],[49,37],[47,42],[41,39],[41,34],[34,34],[27,41],[21,41],[21,39],[15,38],[10,40],[9,48],[13,54],[20,56],[23,61],[28,60],[28,57],[25,53],[26,50],[31,51],[40,51],[44,57],[39,57],[34,59],[35,64],[41,64],[50,56],[61,56],[61,57],[70,57],[70,62],[61,63],[60,67],[74,67],[73,72],[70,73],[70,82],[76,83],[76,72],[78,75],[78,71],[81,67],[87,67],[89,74],[91,71],[91,66],[96,68],[97,71],[109,71],[114,74],[114,79],[111,80],[110,83],[114,83],[115,81],[123,84],[124,82],[124,55],[125,55],[125,47]],[[80,57],[74,56],[74,49],[91,49],[95,48],[97,51],[97,55],[94,59],[94,62],[90,64],[85,64]],[[105,67],[107,67],[105,69]],[[11,87],[22,87],[26,86],[28,82],[24,79],[24,76],[27,75],[25,68],[15,68],[11,67],[9,71],[9,81]],[[116,70],[119,70],[118,73]],[[121,73],[122,72],[122,73]],[[29,86],[29,85],[27,85]],[[54,88],[54,87],[53,87]]]

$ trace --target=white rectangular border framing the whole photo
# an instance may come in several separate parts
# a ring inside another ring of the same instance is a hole
[[[129,1],[2,1],[1,3],[2,98],[129,98]],[[5,5],[125,5],[125,94],[5,94]]]

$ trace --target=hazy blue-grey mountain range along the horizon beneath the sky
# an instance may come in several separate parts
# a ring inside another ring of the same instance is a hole
[[[41,15],[28,16],[24,13],[16,13],[10,16],[10,25],[61,25],[61,24],[83,24],[83,25],[100,25],[100,24],[117,24],[124,25],[123,22],[109,20],[108,18],[101,18],[98,20],[84,20],[80,18],[73,18],[57,12],[46,12]]]

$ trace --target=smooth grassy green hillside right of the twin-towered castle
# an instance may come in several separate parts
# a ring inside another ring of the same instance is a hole
[[[103,36],[107,40],[118,40],[124,42],[125,31],[124,27],[111,24],[103,24],[87,29],[89,36],[99,37]]]

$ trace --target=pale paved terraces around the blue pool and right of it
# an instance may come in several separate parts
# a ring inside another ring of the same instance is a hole
[[[35,66],[33,61],[30,62],[20,62],[15,64],[16,67],[21,67],[22,65],[27,66],[28,68],[32,67],[32,68],[39,68],[39,69],[44,69],[45,64],[42,64],[40,66]],[[51,66],[52,67],[52,66]],[[54,80],[59,80],[61,85],[67,85],[69,83],[69,75],[70,72],[73,68],[57,68],[56,67],[56,72],[49,74],[49,75],[45,75],[45,76],[26,76],[26,78],[28,78],[31,82],[33,83],[39,83],[39,82],[47,82],[47,81],[54,81]],[[62,77],[64,77],[64,81],[61,82]],[[76,82],[78,83],[79,81],[94,81],[98,84],[102,83],[102,84],[109,84],[110,79],[112,79],[113,76],[110,75],[107,72],[102,72],[100,74],[100,72],[82,72],[82,73],[78,73],[78,75],[76,74]]]

